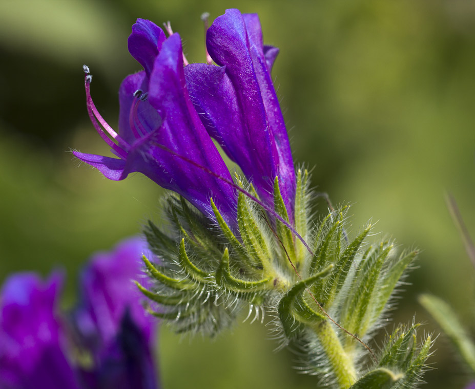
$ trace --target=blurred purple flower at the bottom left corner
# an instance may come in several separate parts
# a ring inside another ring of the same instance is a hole
[[[42,281],[20,273],[5,282],[0,301],[0,387],[4,389],[79,388],[64,350],[57,314],[62,277]]]

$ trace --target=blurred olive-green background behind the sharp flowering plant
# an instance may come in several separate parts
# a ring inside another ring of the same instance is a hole
[[[465,0],[0,1],[0,281],[64,268],[68,306],[93,251],[159,220],[155,184],[139,175],[108,181],[68,152],[108,154],[88,119],[81,66],[115,126],[119,83],[140,69],[127,51],[134,20],[171,20],[199,62],[200,14],[225,8],[258,12],[264,41],[281,49],[273,75],[294,158],[313,168],[317,189],[353,204],[354,230],[372,218],[383,236],[422,249],[394,321],[416,314],[437,331],[416,300],[429,292],[473,334],[475,272],[443,197],[453,193],[475,235],[475,2]],[[257,324],[214,341],[163,328],[164,388],[317,387],[275,345]],[[462,388],[469,377],[443,336],[436,349],[427,387]]]

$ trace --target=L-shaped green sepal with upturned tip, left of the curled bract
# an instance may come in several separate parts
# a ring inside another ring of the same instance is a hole
[[[228,248],[224,249],[221,264],[216,271],[216,283],[235,293],[253,293],[272,289],[272,277],[259,281],[244,281],[231,275]]]

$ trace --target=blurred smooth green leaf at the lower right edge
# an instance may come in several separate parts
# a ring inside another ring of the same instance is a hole
[[[445,301],[430,294],[419,296],[419,303],[437,321],[470,370],[475,372],[475,344],[462,327],[455,312]]]

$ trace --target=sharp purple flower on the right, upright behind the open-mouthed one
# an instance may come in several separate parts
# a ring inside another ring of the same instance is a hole
[[[290,143],[271,78],[278,49],[264,46],[257,14],[237,9],[214,20],[206,47],[218,66],[185,68],[190,96],[208,130],[252,181],[259,196],[273,203],[279,177],[293,221],[295,171]]]

